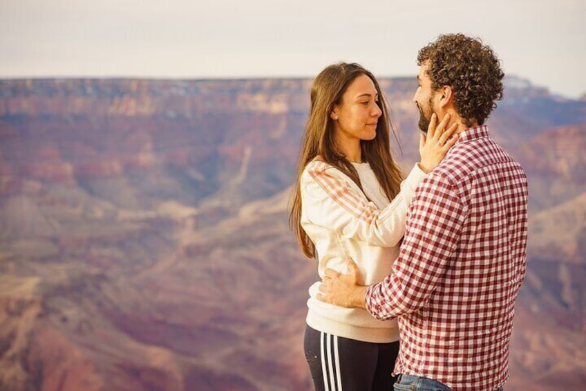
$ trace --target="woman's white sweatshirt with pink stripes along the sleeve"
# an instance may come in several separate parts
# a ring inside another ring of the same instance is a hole
[[[405,233],[406,213],[415,188],[426,175],[417,165],[389,203],[368,163],[352,163],[362,188],[336,167],[316,159],[301,175],[301,226],[315,245],[319,277],[325,269],[348,273],[346,258],[358,265],[363,283],[392,272]],[[368,201],[364,194],[372,201]],[[397,320],[376,320],[365,309],[348,309],[317,300],[310,287],[308,325],[318,331],[373,343],[399,340]]]

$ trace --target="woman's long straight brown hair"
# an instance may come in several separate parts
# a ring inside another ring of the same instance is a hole
[[[379,83],[359,64],[340,62],[325,68],[315,78],[311,89],[311,108],[301,144],[301,155],[297,165],[297,178],[292,192],[289,226],[294,230],[297,242],[305,256],[314,258],[315,246],[301,227],[301,174],[305,166],[316,156],[321,161],[336,167],[348,175],[362,189],[358,173],[334,143],[334,124],[330,113],[334,106],[341,104],[342,96],[358,76],[367,75],[375,84],[379,94],[379,107],[382,114],[377,125],[377,135],[372,140],[361,140],[363,161],[370,164],[372,171],[388,199],[393,199],[400,190],[403,176],[399,166],[390,156],[389,131],[393,131],[388,116],[388,106]]]

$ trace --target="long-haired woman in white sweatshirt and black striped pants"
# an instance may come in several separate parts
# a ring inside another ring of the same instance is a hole
[[[442,160],[455,127],[435,129],[419,143],[421,161],[402,180],[389,148],[388,109],[375,77],[358,64],[334,64],[314,80],[290,224],[319,276],[357,262],[364,284],[392,270],[405,232],[407,207],[426,173]],[[392,201],[391,201],[392,200]],[[316,299],[310,287],[305,357],[316,390],[391,390],[399,350],[396,320]]]

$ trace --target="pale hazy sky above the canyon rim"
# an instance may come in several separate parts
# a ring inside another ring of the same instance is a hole
[[[415,77],[419,48],[461,32],[577,98],[585,18],[586,0],[0,0],[0,78],[314,78],[339,61]]]

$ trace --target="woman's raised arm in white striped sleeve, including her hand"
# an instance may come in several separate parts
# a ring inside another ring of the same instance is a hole
[[[407,208],[415,188],[457,140],[457,124],[446,129],[449,119],[446,114],[438,124],[437,116],[432,115],[427,136],[422,136],[419,143],[421,163],[413,167],[401,182],[399,194],[383,210],[368,201],[337,168],[321,161],[309,163],[301,177],[301,199],[307,219],[343,237],[375,246],[396,246],[405,233]]]

